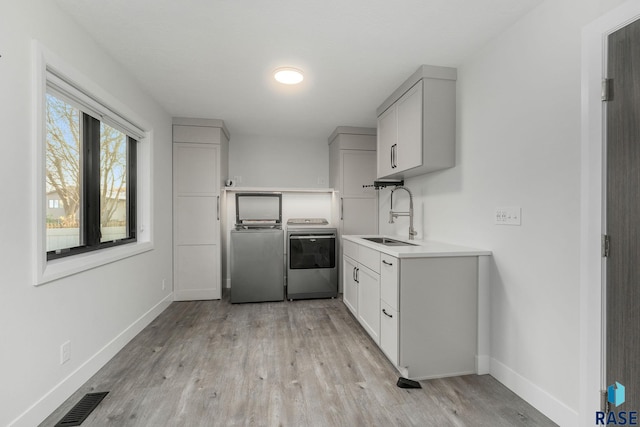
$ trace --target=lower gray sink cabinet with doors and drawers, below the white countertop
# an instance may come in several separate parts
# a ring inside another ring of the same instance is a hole
[[[478,256],[343,248],[344,303],[402,376],[477,373]]]

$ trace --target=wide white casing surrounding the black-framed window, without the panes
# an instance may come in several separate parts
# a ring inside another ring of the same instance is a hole
[[[35,170],[33,182],[34,204],[32,206],[33,223],[35,225],[33,232],[35,260],[33,283],[35,286],[39,286],[153,249],[153,227],[151,226],[151,206],[153,206],[151,191],[153,130],[151,126],[126,105],[53,54],[38,41],[33,42],[32,50],[34,84],[32,134]],[[55,74],[63,76],[68,84],[73,85],[96,101],[96,108],[99,105],[107,108],[117,116],[126,118],[127,121],[135,123],[137,130],[142,133],[137,146],[136,242],[47,261],[45,226],[47,203],[45,188],[46,126],[44,120],[47,69],[55,70]]]

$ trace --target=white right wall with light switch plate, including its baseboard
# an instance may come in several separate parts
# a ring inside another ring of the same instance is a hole
[[[580,394],[581,29],[620,3],[546,1],[461,64],[457,166],[407,182],[420,237],[493,251],[492,374],[563,426]],[[381,193],[381,230],[404,236]],[[494,225],[498,206],[522,226]]]

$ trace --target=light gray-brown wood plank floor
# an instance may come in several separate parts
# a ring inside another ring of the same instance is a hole
[[[41,425],[86,393],[83,426],[554,426],[489,375],[398,373],[340,299],[174,302]]]

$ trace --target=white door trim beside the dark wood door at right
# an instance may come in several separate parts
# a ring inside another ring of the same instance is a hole
[[[604,77],[607,35],[640,17],[640,2],[628,1],[582,30],[582,129],[580,206],[580,398],[579,425],[592,425],[604,387],[602,327],[604,230]]]

